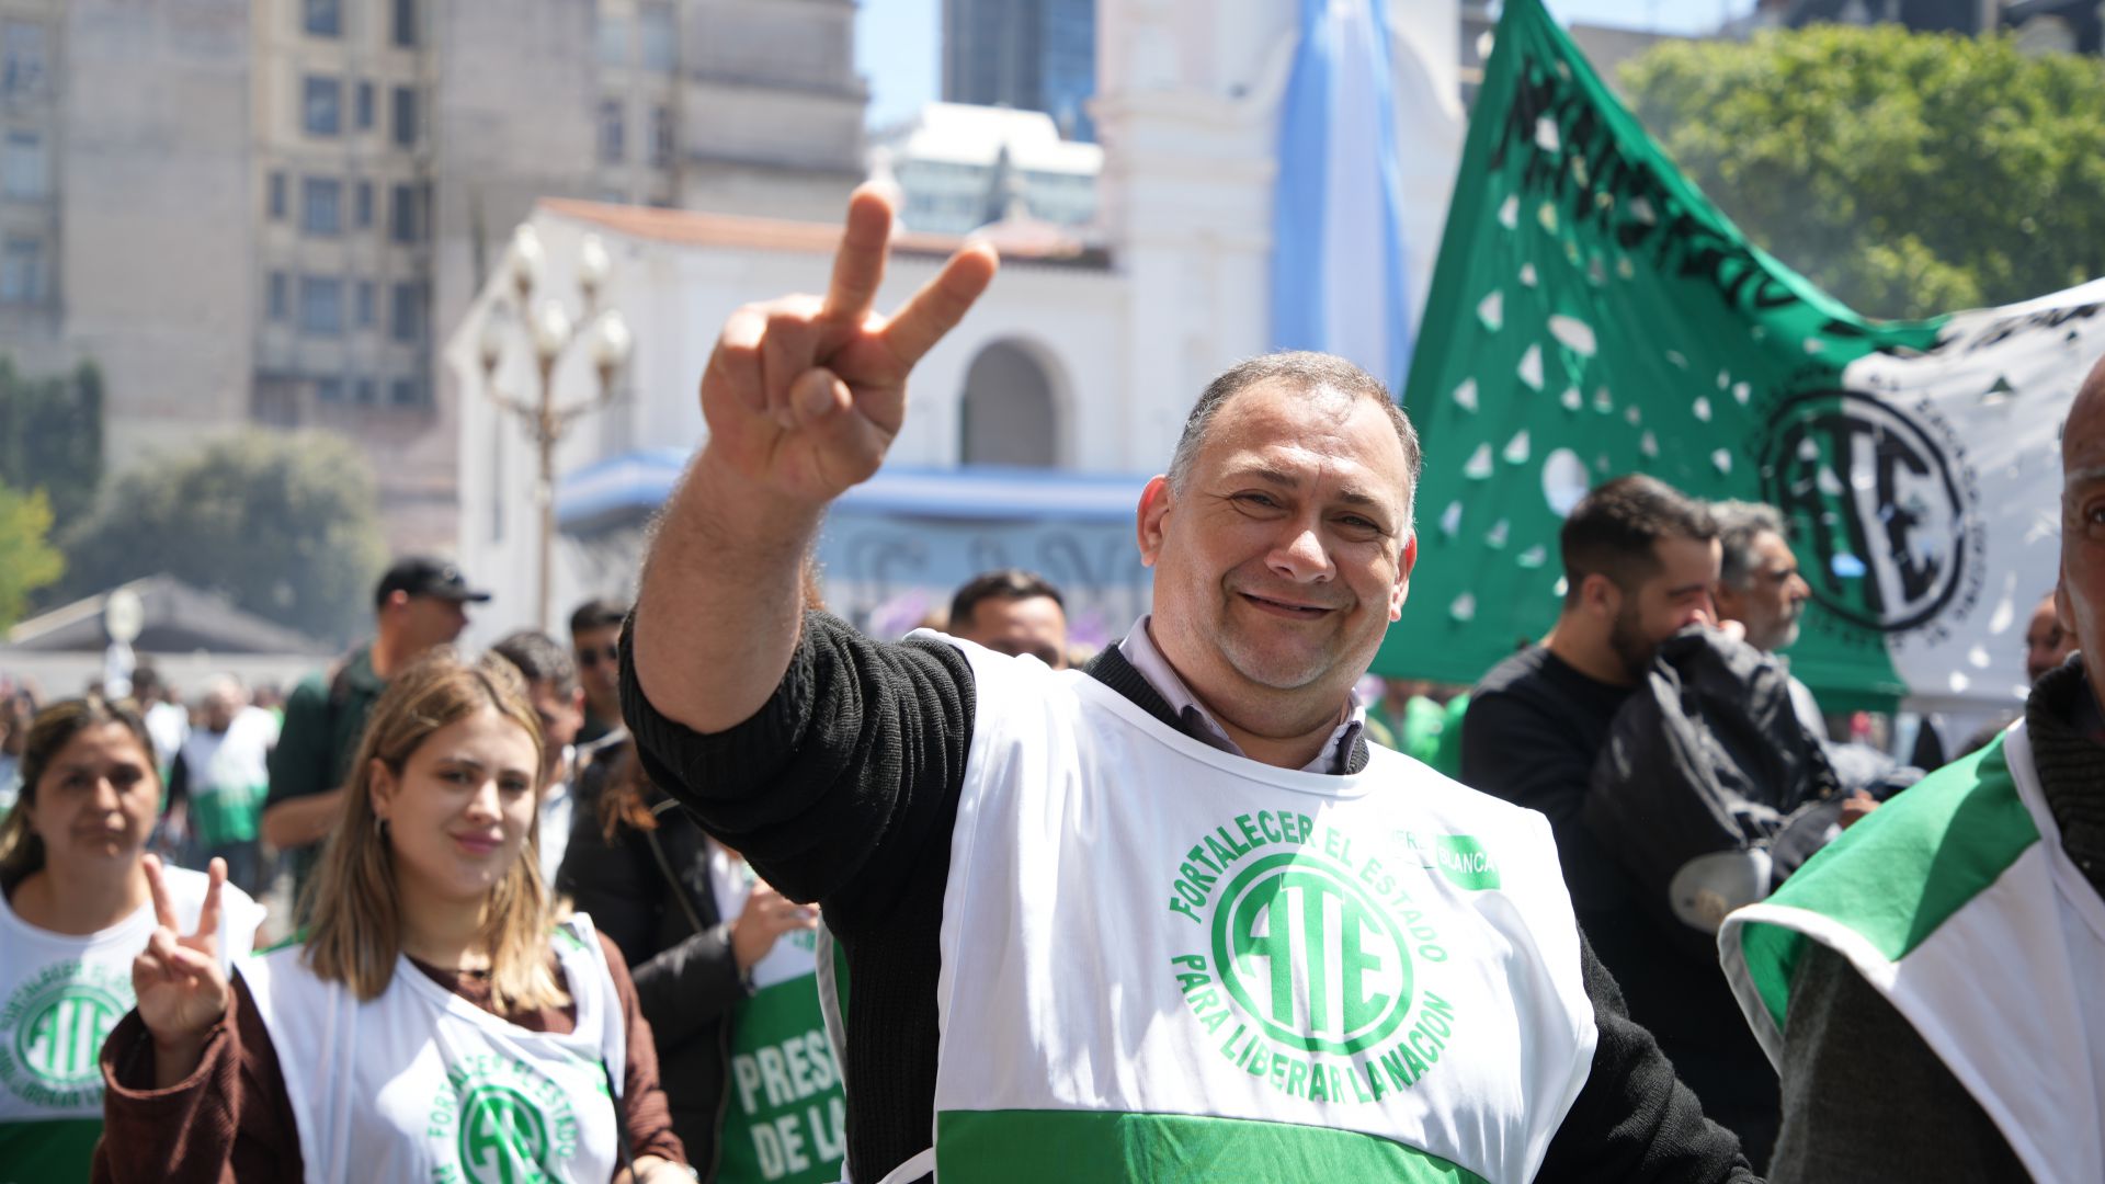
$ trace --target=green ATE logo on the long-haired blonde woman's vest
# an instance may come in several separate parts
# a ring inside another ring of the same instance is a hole
[[[562,1085],[530,1064],[474,1055],[446,1074],[432,1100],[425,1136],[453,1142],[459,1165],[442,1167],[438,1184],[541,1184],[562,1178],[577,1157],[577,1110]],[[594,1104],[610,1098],[600,1085]]]

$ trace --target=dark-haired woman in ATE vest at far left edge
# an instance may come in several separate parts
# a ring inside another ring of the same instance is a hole
[[[156,925],[204,929],[242,956],[263,910],[223,887],[219,860],[204,876],[145,853],[162,786],[131,706],[44,708],[21,773],[0,822],[0,1176],[86,1180],[103,1129],[95,1055],[133,1007],[133,956]]]

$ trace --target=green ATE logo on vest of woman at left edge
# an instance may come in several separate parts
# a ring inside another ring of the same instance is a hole
[[[0,1007],[0,1081],[32,1106],[97,1102],[103,1039],[131,1007],[131,982],[118,971],[80,961],[46,967]]]

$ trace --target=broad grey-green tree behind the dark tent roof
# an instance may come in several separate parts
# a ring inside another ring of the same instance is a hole
[[[120,476],[61,533],[67,592],[168,573],[318,638],[370,615],[387,560],[373,470],[341,436],[244,432]]]

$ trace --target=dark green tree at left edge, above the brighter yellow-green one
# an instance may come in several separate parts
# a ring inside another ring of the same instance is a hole
[[[93,362],[29,377],[0,358],[0,480],[42,489],[61,531],[88,510],[103,480],[103,375]]]

